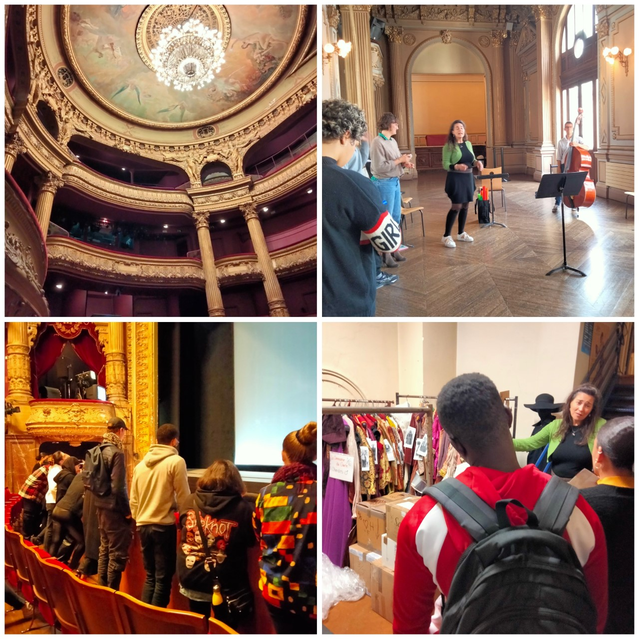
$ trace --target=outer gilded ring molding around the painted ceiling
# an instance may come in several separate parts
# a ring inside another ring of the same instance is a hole
[[[214,116],[212,118],[204,118],[204,119],[200,119],[200,120],[196,120],[196,121],[192,121],[188,123],[178,123],[178,122],[165,123],[165,122],[155,122],[151,120],[137,118],[133,116],[132,114],[126,111],[123,111],[122,109],[118,109],[118,107],[112,104],[112,102],[109,102],[109,100],[105,100],[105,98],[93,88],[93,86],[88,81],[84,73],[82,73],[82,70],[77,63],[77,60],[75,59],[75,54],[73,53],[73,47],[71,45],[71,37],[70,37],[69,29],[68,29],[68,21],[70,19],[69,17],[70,5],[68,4],[65,4],[61,7],[60,31],[61,31],[62,44],[65,50],[66,58],[68,59],[71,65],[71,68],[73,70],[73,73],[75,74],[75,77],[78,79],[80,84],[82,84],[82,87],[85,89],[85,91],[87,91],[87,93],[91,96],[91,98],[93,98],[93,100],[98,102],[98,104],[102,105],[105,109],[107,109],[107,111],[110,111],[116,114],[119,118],[141,125],[142,127],[171,129],[171,130],[192,129],[192,128],[201,127],[202,125],[205,125],[205,124],[210,124],[212,122],[217,122],[219,120],[229,118],[230,116],[242,111],[250,104],[253,104],[257,100],[259,100],[261,96],[265,95],[265,93],[270,88],[272,88],[273,84],[275,84],[275,82],[277,82],[282,77],[284,72],[288,69],[288,66],[291,63],[291,59],[293,59],[293,56],[295,56],[298,46],[300,45],[300,42],[302,40],[302,36],[304,35],[308,7],[305,4],[300,4],[298,5],[298,7],[299,7],[299,12],[297,17],[297,23],[295,26],[295,35],[293,36],[293,38],[291,38],[291,42],[289,43],[288,50],[286,51],[286,54],[284,54],[284,58],[282,58],[281,63],[279,64],[279,66],[277,67],[273,75],[271,75],[266,80],[263,86],[261,86],[258,89],[258,91],[255,91],[254,93],[252,93],[252,95],[250,95],[248,98],[246,98],[245,100],[242,100],[242,102],[240,102],[239,104],[236,104],[231,109],[227,109],[226,111],[223,111],[217,116]]]

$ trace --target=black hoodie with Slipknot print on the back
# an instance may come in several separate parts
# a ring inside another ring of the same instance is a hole
[[[247,548],[256,543],[253,509],[238,493],[203,491],[190,495],[180,512],[182,527],[178,545],[178,577],[183,588],[206,594],[213,592],[213,573],[204,569],[204,548],[196,524],[195,506],[209,548],[226,554],[215,573],[222,590],[249,587]]]

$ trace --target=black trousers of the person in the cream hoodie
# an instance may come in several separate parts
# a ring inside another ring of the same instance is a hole
[[[166,608],[171,598],[171,580],[177,560],[178,529],[149,524],[137,528],[142,546],[142,563],[146,580],[142,588],[142,601]]]

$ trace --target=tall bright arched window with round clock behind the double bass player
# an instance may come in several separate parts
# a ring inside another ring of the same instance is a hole
[[[597,12],[594,4],[574,4],[564,22],[561,39],[561,114],[560,131],[566,121],[577,117],[583,108],[583,121],[575,129],[591,151],[597,149],[599,131],[597,82]],[[590,177],[597,180],[596,162],[590,169]]]

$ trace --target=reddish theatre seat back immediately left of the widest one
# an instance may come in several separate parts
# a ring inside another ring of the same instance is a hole
[[[70,570],[63,571],[62,581],[83,635],[123,635],[115,590],[84,581]]]

